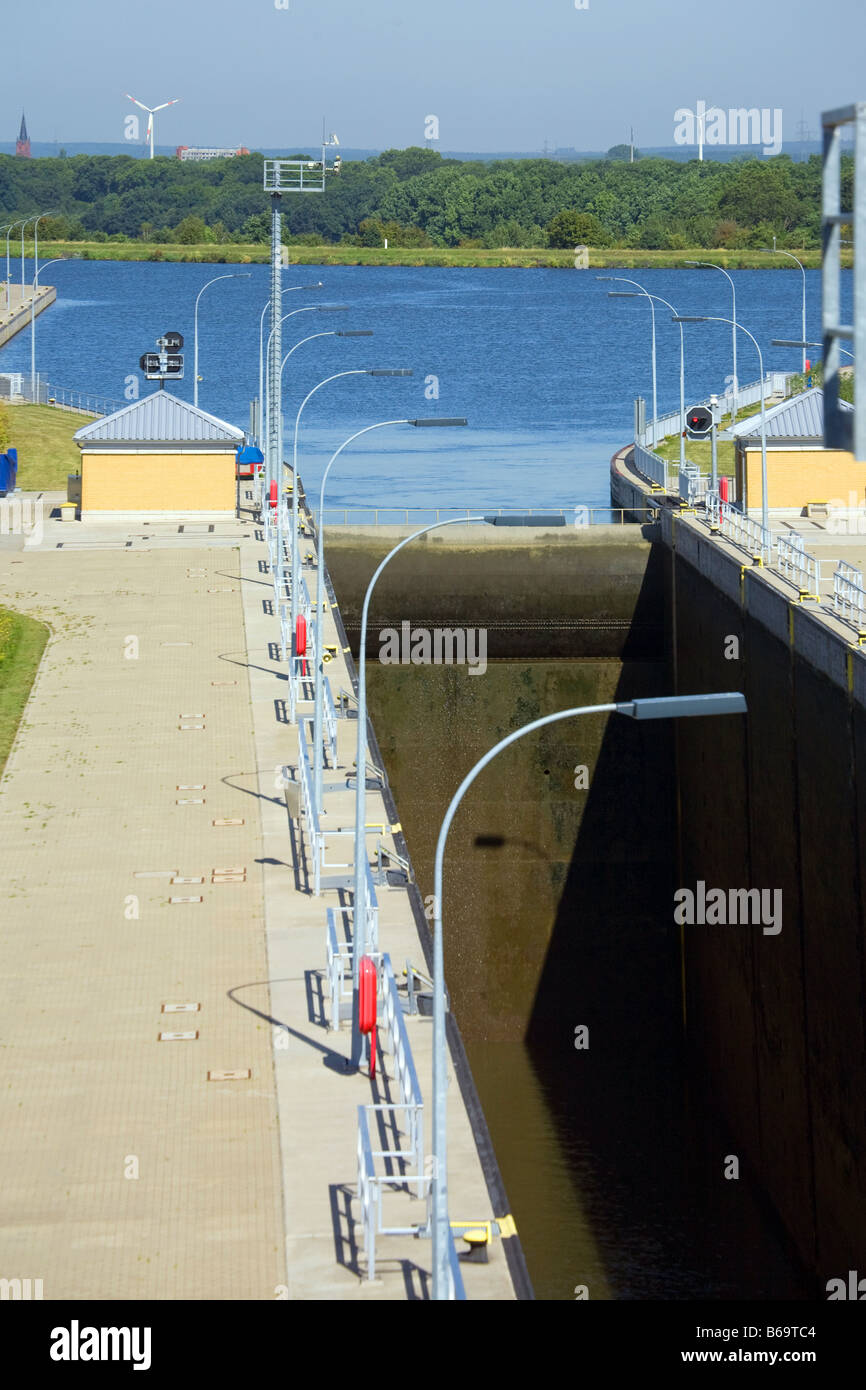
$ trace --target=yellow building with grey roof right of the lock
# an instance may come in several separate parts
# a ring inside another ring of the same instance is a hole
[[[842,410],[852,410],[840,402]],[[740,420],[719,435],[733,439],[737,498],[745,512],[760,510],[760,414]],[[766,411],[767,506],[770,510],[824,503],[830,512],[866,503],[866,463],[847,449],[824,449],[824,393],[803,391]]]

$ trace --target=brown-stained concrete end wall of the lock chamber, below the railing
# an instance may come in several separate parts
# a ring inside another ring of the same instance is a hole
[[[553,709],[660,694],[667,680],[663,553],[637,527],[456,531],[392,562],[368,627],[370,710],[424,895],[448,802],[492,744]],[[327,531],[354,645],[366,582],[405,534]],[[379,631],[406,620],[487,628],[487,671],[381,664]],[[646,730],[602,716],[555,726],[507,749],[467,795],[445,880],[448,981],[467,1042],[553,1031],[573,1047],[575,1024],[601,1026],[612,995],[623,1002],[621,952],[645,954],[656,994],[676,995],[676,931],[657,924],[671,891],[673,745]],[[624,1045],[635,1019],[623,1006]]]

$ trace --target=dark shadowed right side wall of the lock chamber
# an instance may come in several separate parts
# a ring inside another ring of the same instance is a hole
[[[688,1037],[823,1287],[866,1244],[866,721],[798,651],[805,610],[773,632],[760,581],[744,585],[745,609],[673,563],[677,689],[742,689],[749,705],[748,723],[677,726],[678,881],[778,888],[783,926],[684,926]]]

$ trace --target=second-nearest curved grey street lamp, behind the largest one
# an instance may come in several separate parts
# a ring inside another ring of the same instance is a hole
[[[410,424],[424,425],[424,424],[452,424],[464,425],[466,420],[434,420],[423,421],[416,420]],[[360,959],[364,955],[366,948],[366,912],[367,912],[367,614],[370,612],[370,599],[373,598],[373,591],[375,588],[379,574],[385,566],[393,560],[395,555],[410,545],[411,541],[417,541],[418,537],[427,535],[430,531],[438,531],[445,525],[467,525],[468,523],[478,521],[485,525],[499,525],[502,524],[502,517],[496,516],[477,516],[477,517],[448,517],[445,521],[434,521],[431,525],[421,527],[420,531],[413,531],[411,535],[405,537],[392,550],[388,552],[385,559],[381,562],[375,570],[370,584],[367,585],[367,592],[364,594],[364,603],[361,607],[361,637],[360,646],[357,652],[357,751],[354,758],[354,766],[357,769],[356,777],[356,792],[354,792],[354,895],[353,895],[353,917],[354,930],[352,935],[352,974],[354,980],[354,988],[357,990],[357,979],[360,969]],[[321,517],[320,517],[321,524]],[[510,516],[507,517],[509,525],[564,525],[564,516]],[[357,1027],[357,999],[354,1001],[353,1009],[353,1033],[352,1033],[352,1061],[354,1065],[360,1062],[361,1058],[361,1034]]]

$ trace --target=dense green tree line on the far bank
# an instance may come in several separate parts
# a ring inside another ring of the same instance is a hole
[[[845,199],[851,157],[842,164]],[[781,246],[815,247],[820,182],[817,156],[806,163],[780,154],[726,163],[607,157],[562,164],[386,150],[343,163],[321,195],[284,197],[284,240],[681,250],[766,246],[776,236]],[[47,240],[267,242],[268,207],[257,154],[209,163],[0,156],[0,225],[53,208],[39,228]]]

